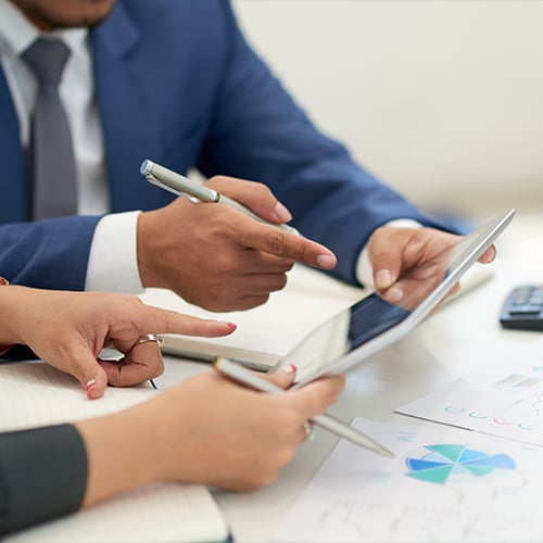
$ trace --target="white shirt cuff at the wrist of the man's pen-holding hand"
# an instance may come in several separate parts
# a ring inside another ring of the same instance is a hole
[[[139,294],[137,227],[141,212],[104,215],[90,245],[85,290]]]

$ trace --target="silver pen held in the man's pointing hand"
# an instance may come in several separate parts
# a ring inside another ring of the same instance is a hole
[[[292,226],[275,225],[273,223],[268,223],[267,220],[253,213],[249,207],[245,207],[243,204],[237,202],[236,200],[225,197],[224,194],[220,194],[216,190],[210,189],[201,182],[194,181],[189,177],[177,174],[176,172],[161,166],[160,164],[156,164],[155,162],[152,162],[150,160],[146,160],[141,163],[140,173],[146,176],[149,182],[156,185],[161,189],[173,192],[178,197],[186,197],[192,203],[218,202],[222,204],[226,204],[230,207],[233,207],[235,210],[240,211],[241,213],[244,213],[245,215],[249,215],[260,223],[275,226],[289,233],[300,236],[300,232]]]

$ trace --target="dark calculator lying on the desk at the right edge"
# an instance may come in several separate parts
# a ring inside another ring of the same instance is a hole
[[[515,287],[502,305],[500,323],[504,328],[543,331],[543,285]]]

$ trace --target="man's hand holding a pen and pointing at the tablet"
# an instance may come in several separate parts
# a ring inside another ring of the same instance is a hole
[[[206,185],[273,224],[290,213],[262,184],[214,177]],[[294,262],[323,269],[334,254],[302,236],[260,223],[227,205],[185,198],[138,220],[138,266],[144,287],[168,288],[210,311],[248,310],[287,282]]]

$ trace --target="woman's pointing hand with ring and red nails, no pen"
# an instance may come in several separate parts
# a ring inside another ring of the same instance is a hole
[[[136,345],[151,333],[217,337],[231,333],[231,323],[204,320],[144,305],[131,295],[64,292],[2,287],[0,343],[28,345],[37,356],[74,376],[90,399],[101,397],[108,384],[128,387],[164,370],[155,342]],[[104,346],[124,357],[99,358]]]

